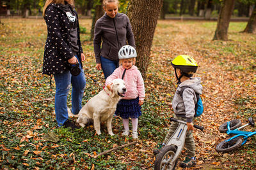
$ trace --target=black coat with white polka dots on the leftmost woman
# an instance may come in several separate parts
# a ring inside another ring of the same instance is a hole
[[[76,13],[75,10],[74,12]],[[83,49],[80,42],[77,13],[76,18],[77,45],[79,45],[78,56],[81,56]],[[68,17],[58,4],[49,4],[45,10],[44,20],[47,24],[47,39],[44,48],[43,74],[63,73],[68,69],[67,60],[74,57],[71,50],[70,23]]]

